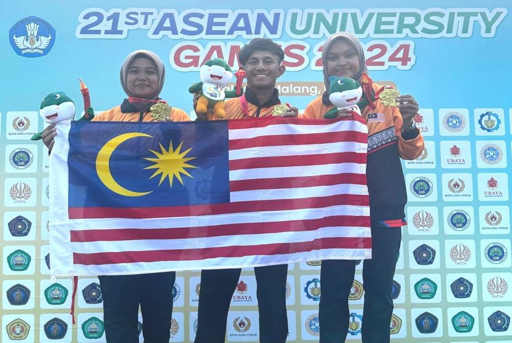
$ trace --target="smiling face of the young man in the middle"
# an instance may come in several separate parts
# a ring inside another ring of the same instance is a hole
[[[266,50],[254,51],[243,67],[251,89],[274,89],[275,80],[285,72],[279,57]]]

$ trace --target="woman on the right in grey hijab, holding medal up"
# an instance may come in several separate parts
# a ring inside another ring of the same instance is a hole
[[[330,36],[322,51],[323,74],[326,90],[332,77],[350,77],[364,81],[364,97],[357,104],[368,125],[367,184],[370,196],[370,226],[372,232],[372,259],[365,260],[365,305],[361,337],[364,343],[390,341],[390,320],[393,314],[392,292],[396,290],[393,275],[401,239],[401,226],[406,225],[404,206],[407,188],[400,158],[413,160],[421,155],[424,141],[413,117],[418,103],[410,95],[397,98],[397,106],[385,106],[375,94],[380,85],[368,77],[365,49],[357,37],[348,32]],[[366,73],[366,74],[364,74]],[[363,80],[361,80],[363,78]],[[303,116],[324,118],[334,105],[327,91],[309,103]],[[338,117],[350,117],[345,110]],[[354,204],[358,205],[358,204]],[[425,253],[428,254],[428,251]],[[421,260],[422,254],[418,257]],[[422,261],[417,261],[421,264]],[[345,341],[349,321],[359,317],[350,315],[348,297],[355,273],[355,261],[322,261],[322,297],[319,303],[320,343]],[[394,293],[393,293],[394,294]]]

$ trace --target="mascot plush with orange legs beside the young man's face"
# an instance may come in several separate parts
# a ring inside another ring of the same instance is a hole
[[[236,98],[243,94],[243,89],[224,91],[223,88],[231,81],[233,73],[231,67],[222,58],[214,58],[206,61],[199,69],[201,82],[190,86],[188,92],[202,92],[197,101],[196,113],[204,114],[208,109],[213,110],[214,116],[224,118],[224,99]]]

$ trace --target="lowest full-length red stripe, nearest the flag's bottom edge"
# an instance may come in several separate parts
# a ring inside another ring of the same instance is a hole
[[[233,258],[250,255],[280,255],[308,252],[319,249],[371,248],[371,238],[335,237],[319,238],[308,242],[272,243],[263,245],[227,246],[203,249],[175,249],[150,251],[121,251],[77,253],[73,252],[73,263],[81,265],[105,265],[119,263],[197,261],[215,258]]]

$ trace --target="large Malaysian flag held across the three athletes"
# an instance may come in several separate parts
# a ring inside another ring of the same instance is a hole
[[[360,117],[56,127],[52,275],[371,258]]]

